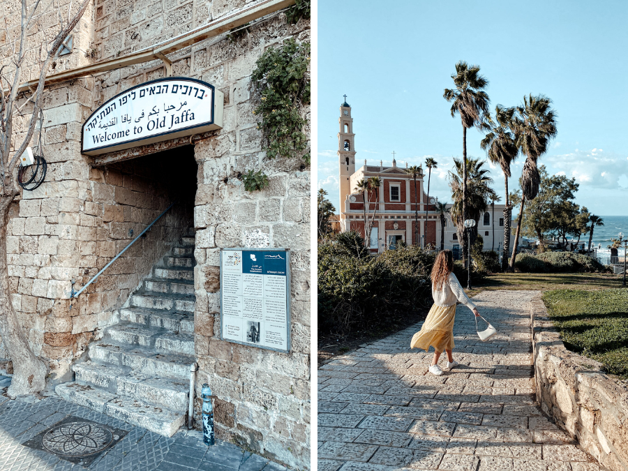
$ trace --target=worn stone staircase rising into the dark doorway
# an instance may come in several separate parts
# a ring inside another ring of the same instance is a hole
[[[168,437],[184,424],[196,361],[194,242],[189,230],[156,264],[59,396]]]

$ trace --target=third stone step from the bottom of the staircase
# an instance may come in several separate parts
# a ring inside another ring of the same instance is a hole
[[[190,365],[196,358],[185,354],[163,354],[140,345],[93,343],[87,350],[89,359],[98,364],[128,366],[135,373],[149,377],[170,377],[187,381]]]

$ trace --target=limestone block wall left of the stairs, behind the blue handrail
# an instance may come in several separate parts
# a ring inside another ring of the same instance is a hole
[[[93,103],[90,88],[90,80],[80,80],[46,91],[45,181],[22,193],[7,227],[13,307],[34,352],[47,361],[50,386],[68,380],[70,361],[116,322],[117,308],[193,223],[192,197],[187,207],[180,204],[164,216],[79,299],[70,299],[72,280],[77,289],[87,283],[179,193],[171,183],[177,171],[165,160],[91,167],[80,154],[80,126]],[[195,166],[187,177],[194,190]],[[0,358],[10,359],[1,347]]]

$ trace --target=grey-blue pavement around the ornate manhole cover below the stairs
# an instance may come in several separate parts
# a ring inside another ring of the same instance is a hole
[[[0,376],[1,388],[8,381]],[[128,434],[89,468],[75,465],[46,451],[24,447],[46,428],[68,415],[121,428]],[[199,431],[181,431],[167,438],[145,428],[127,424],[99,412],[68,403],[59,396],[40,401],[33,398],[10,401],[0,396],[1,471],[286,471],[262,456],[248,453],[234,444],[216,440],[207,447]]]

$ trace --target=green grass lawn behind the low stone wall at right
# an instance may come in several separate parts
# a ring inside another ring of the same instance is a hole
[[[628,380],[628,289],[552,290],[543,301],[569,350]]]

